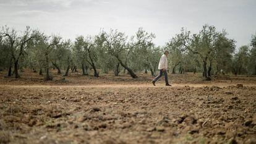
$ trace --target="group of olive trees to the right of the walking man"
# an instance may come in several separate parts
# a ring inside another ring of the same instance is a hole
[[[256,74],[256,35],[250,46],[241,46],[236,53],[236,41],[227,38],[225,30],[218,32],[214,26],[204,25],[199,33],[191,34],[184,28],[167,43],[171,51],[173,73],[179,66],[184,70],[202,71],[211,80],[212,74]]]

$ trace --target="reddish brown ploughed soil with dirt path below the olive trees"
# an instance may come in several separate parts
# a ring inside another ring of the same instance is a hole
[[[256,77],[0,73],[0,143],[254,143]],[[237,84],[242,85],[237,85]]]

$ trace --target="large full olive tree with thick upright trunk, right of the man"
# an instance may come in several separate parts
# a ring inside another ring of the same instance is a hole
[[[203,77],[205,77],[206,80],[211,80],[211,69],[216,59],[216,48],[218,47],[216,44],[220,44],[220,36],[226,35],[224,30],[223,32],[217,32],[214,26],[203,25],[202,30],[193,35],[182,28],[181,33],[177,34],[173,40],[178,46],[182,46],[182,49],[197,54],[198,57],[200,57],[200,61],[202,61],[203,65]],[[234,41],[228,40],[228,42],[232,51]]]

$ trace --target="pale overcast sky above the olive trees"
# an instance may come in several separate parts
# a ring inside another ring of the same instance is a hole
[[[181,27],[193,33],[207,23],[223,28],[237,47],[249,44],[256,32],[255,0],[0,0],[0,25],[75,39],[96,35],[100,28],[134,35],[139,27],[155,33],[164,46]]]

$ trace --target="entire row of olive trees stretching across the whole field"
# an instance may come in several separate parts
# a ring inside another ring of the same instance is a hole
[[[252,36],[251,48],[242,46],[237,53],[236,41],[227,35],[210,25],[204,25],[195,34],[182,28],[161,48],[152,42],[155,35],[142,28],[130,37],[117,30],[101,30],[95,36],[77,36],[73,42],[30,27],[18,32],[6,26],[0,31],[0,70],[7,69],[8,76],[14,74],[19,78],[23,67],[28,67],[44,74],[45,80],[52,79],[51,68],[64,76],[69,75],[69,70],[82,69],[82,75],[88,75],[88,69],[93,69],[95,77],[99,77],[100,70],[103,73],[113,70],[114,75],[122,71],[137,78],[136,72],[142,70],[155,75],[159,58],[168,49],[173,73],[202,72],[207,80],[220,73],[255,75],[256,35]]]

